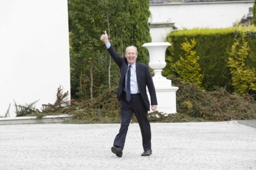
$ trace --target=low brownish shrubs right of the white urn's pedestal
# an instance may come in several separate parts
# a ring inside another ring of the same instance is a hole
[[[256,102],[250,95],[228,93],[225,88],[204,91],[195,84],[172,79],[178,86],[177,112],[206,121],[230,121],[256,119]]]

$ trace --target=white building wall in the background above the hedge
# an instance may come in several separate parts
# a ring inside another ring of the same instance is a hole
[[[249,13],[254,0],[232,2],[150,4],[150,23],[171,22],[178,29],[226,28]]]

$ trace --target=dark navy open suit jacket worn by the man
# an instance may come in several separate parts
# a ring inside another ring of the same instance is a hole
[[[124,84],[125,84],[125,75],[128,69],[128,62],[126,57],[121,58],[112,46],[108,48],[108,52],[120,69],[120,80],[119,80],[117,98],[119,101],[121,101]],[[141,94],[141,97],[143,99],[145,106],[147,107],[148,111],[150,111],[150,103],[148,100],[146,86],[148,87],[148,92],[150,94],[151,105],[157,105],[157,99],[156,99],[155,86],[154,86],[150,71],[148,69],[148,66],[146,64],[142,64],[136,61],[136,76],[137,76],[139,92]]]

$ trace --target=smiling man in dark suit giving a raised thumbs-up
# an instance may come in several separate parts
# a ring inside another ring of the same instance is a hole
[[[151,99],[152,111],[157,108],[156,91],[148,66],[136,61],[138,52],[135,46],[126,48],[125,57],[120,57],[115,49],[111,46],[108,35],[105,31],[100,38],[120,69],[119,88],[117,98],[121,101],[121,127],[116,135],[111,151],[118,157],[122,157],[122,150],[128,131],[128,126],[133,113],[137,117],[142,135],[142,145],[144,152],[141,156],[150,156],[151,150],[151,128],[148,121],[148,111],[150,103],[146,91]]]

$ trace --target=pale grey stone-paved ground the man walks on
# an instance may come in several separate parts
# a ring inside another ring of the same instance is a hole
[[[152,155],[130,124],[123,157],[111,146],[120,124],[0,126],[0,170],[256,170],[256,129],[229,122],[151,123]]]

